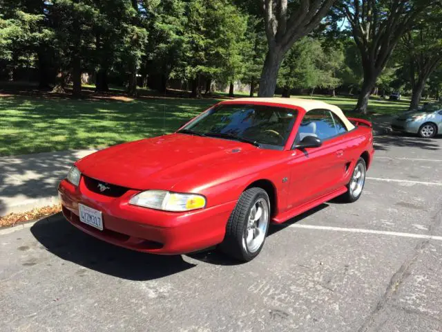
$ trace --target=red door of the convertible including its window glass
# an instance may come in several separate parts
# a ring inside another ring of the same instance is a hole
[[[316,136],[323,144],[303,151],[294,149],[290,163],[289,208],[314,201],[343,185],[348,165],[343,149],[346,132],[342,121],[329,110],[315,109],[305,114],[294,145],[305,136]]]

